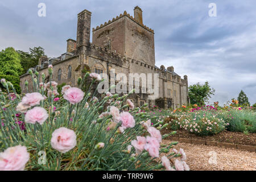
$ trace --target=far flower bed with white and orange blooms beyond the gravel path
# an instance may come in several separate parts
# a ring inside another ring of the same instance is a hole
[[[197,135],[213,135],[222,131],[256,133],[256,113],[251,107],[237,106],[237,101],[229,106],[181,107],[169,111],[164,123],[173,130],[183,129]]]

